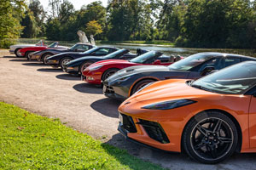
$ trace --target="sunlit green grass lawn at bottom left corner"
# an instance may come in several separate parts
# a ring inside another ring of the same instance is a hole
[[[0,169],[162,169],[61,124],[0,102]]]

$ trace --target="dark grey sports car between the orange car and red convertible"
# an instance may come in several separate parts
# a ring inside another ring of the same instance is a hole
[[[165,79],[197,79],[235,65],[241,61],[256,60],[238,54],[199,53],[193,54],[169,66],[132,66],[116,72],[103,82],[103,93],[113,99],[126,99],[149,82]]]

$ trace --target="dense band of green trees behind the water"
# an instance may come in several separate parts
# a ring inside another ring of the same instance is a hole
[[[77,41],[76,32],[82,30],[87,34],[95,34],[96,39],[109,41],[166,40],[183,47],[256,48],[255,2],[109,0],[107,8],[97,1],[76,11],[68,0],[63,3],[61,0],[49,0],[52,10],[45,23],[41,20],[45,16],[44,9],[38,0],[32,0],[21,23],[25,26],[23,37],[46,35],[49,40]],[[20,20],[17,18],[16,22]],[[93,20],[101,28],[91,25]],[[11,22],[15,23],[13,20]],[[86,28],[87,25],[90,29]],[[8,31],[18,32],[12,37],[19,37],[20,30],[21,27],[14,27]]]

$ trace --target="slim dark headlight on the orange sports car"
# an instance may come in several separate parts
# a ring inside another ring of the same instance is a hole
[[[194,104],[196,101],[190,99],[177,99],[171,101],[164,101],[160,103],[145,105],[142,109],[151,109],[151,110],[169,110],[177,107],[182,107],[184,105]]]

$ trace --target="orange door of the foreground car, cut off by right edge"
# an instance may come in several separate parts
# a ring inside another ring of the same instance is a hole
[[[249,108],[249,137],[250,147],[256,148],[256,88],[253,90],[252,99]]]

